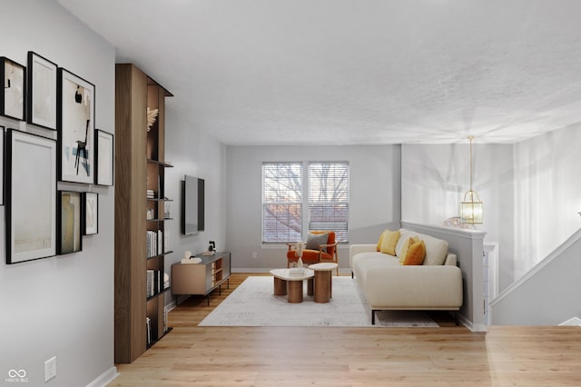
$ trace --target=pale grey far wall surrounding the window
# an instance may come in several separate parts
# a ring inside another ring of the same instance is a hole
[[[399,145],[228,146],[227,244],[232,268],[286,267],[286,245],[261,244],[261,164],[272,161],[350,162],[350,243],[376,243],[386,227],[399,228]],[[258,258],[252,259],[256,252]],[[340,246],[341,268],[349,250]]]

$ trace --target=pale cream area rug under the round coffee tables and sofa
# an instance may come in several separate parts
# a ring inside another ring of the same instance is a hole
[[[371,311],[359,286],[350,277],[333,277],[330,303],[314,303],[304,283],[302,303],[288,303],[273,294],[270,276],[248,277],[200,326],[390,326],[438,327],[427,313],[380,311],[371,325]]]

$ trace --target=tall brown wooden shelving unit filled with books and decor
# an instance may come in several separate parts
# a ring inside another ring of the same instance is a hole
[[[170,329],[163,274],[172,253],[164,227],[171,220],[165,168],[172,166],[165,163],[165,97],[172,94],[135,65],[115,70],[114,361],[133,362]],[[159,112],[149,130],[147,107]]]

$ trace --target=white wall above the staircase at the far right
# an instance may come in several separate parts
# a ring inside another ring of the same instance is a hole
[[[515,145],[515,279],[581,226],[580,129],[577,124]]]

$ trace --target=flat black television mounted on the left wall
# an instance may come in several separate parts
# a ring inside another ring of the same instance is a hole
[[[185,175],[182,182],[182,233],[194,235],[204,229],[203,179]]]

